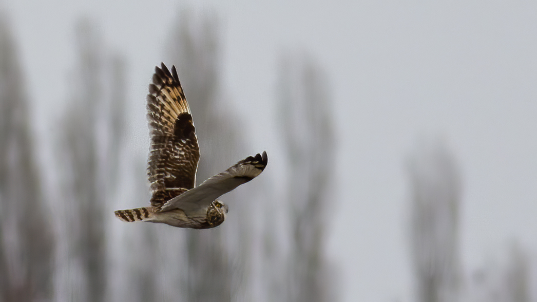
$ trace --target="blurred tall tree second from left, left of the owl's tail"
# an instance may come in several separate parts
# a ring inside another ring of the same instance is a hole
[[[89,20],[78,23],[78,63],[58,152],[65,194],[56,286],[61,301],[103,301],[107,290],[105,217],[118,180],[125,67],[103,45]]]

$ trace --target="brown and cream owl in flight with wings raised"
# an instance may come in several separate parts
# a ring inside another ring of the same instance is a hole
[[[267,154],[248,156],[235,166],[195,186],[200,158],[192,113],[179,83],[177,70],[162,63],[155,68],[147,96],[151,148],[147,174],[151,205],[115,211],[127,222],[161,222],[175,227],[212,228],[226,219],[228,206],[216,200],[258,176]]]

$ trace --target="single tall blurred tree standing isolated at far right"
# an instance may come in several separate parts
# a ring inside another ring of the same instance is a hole
[[[420,146],[409,161],[411,251],[420,302],[459,300],[459,171],[443,143]]]

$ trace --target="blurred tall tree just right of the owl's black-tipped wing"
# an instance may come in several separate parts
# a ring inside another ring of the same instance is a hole
[[[330,267],[324,256],[335,133],[324,71],[296,54],[281,60],[280,112],[288,157],[289,225],[287,301],[333,301]]]

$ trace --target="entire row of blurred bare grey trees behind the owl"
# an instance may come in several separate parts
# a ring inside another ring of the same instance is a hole
[[[270,162],[284,164],[269,163],[262,177],[223,197],[230,214],[222,226],[125,224],[113,210],[143,206],[150,197],[147,158],[126,156],[127,106],[145,106],[142,96],[126,99],[129,62],[91,21],[75,25],[71,90],[63,118],[49,121],[60,130],[45,140],[54,158],[42,163],[7,20],[0,15],[0,302],[338,299],[340,277],[324,252],[326,216],[336,202],[329,196],[337,135],[329,81],[314,59],[279,59],[273,97],[282,126],[273,131],[286,158],[268,153]],[[193,112],[199,183],[252,155],[252,146],[222,85],[217,16],[183,11],[177,20],[163,61],[177,66]],[[416,300],[531,301],[528,258],[516,244],[504,266],[463,275],[462,181],[445,144],[418,145],[408,171]],[[287,183],[281,193],[273,190],[278,177]]]

